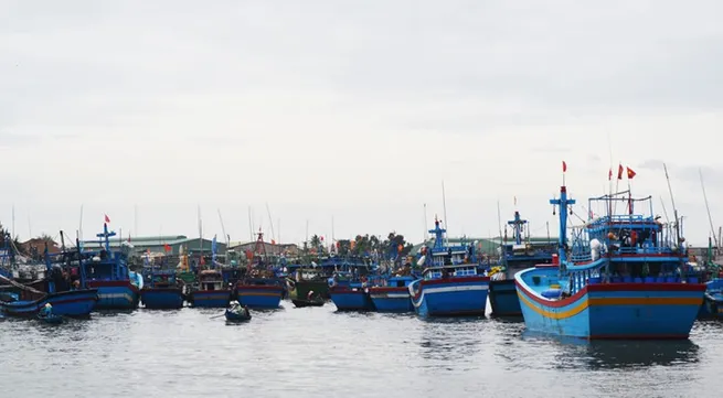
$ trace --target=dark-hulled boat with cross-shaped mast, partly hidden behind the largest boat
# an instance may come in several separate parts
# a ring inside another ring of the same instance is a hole
[[[509,220],[512,226],[513,244],[507,243],[507,229],[504,243],[501,246],[502,268],[500,271],[490,275],[489,302],[495,316],[519,316],[522,315],[520,299],[514,288],[514,275],[523,269],[538,263],[551,263],[556,245],[551,241],[532,243],[528,236],[524,239],[524,226],[527,219],[520,217],[520,212],[514,212],[514,219]]]

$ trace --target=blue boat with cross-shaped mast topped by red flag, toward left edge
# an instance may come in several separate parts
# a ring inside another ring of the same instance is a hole
[[[116,233],[108,232],[108,224],[103,223],[103,233],[96,236],[100,249],[83,251],[81,268],[86,275],[86,286],[98,289],[96,309],[100,310],[134,310],[140,300],[139,287],[130,279],[128,270],[128,248],[118,251],[110,250],[109,238]]]

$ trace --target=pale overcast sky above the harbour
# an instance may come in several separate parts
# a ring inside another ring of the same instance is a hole
[[[256,228],[552,235],[610,163],[723,225],[720,1],[0,1],[0,222],[24,239]],[[621,187],[627,185],[623,180]],[[586,205],[586,203],[584,203]],[[137,206],[137,217],[134,208]],[[581,206],[576,212],[584,215]],[[135,222],[137,219],[137,223]],[[136,227],[137,224],[137,227]],[[137,230],[134,230],[137,229]],[[280,232],[279,232],[280,229]]]

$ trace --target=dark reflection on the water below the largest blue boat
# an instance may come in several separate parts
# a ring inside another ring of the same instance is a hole
[[[556,342],[561,368],[589,370],[677,366],[700,362],[700,346],[690,340],[587,341],[523,331],[527,342]]]

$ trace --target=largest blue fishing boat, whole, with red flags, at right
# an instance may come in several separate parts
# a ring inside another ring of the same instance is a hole
[[[560,265],[514,276],[530,331],[589,340],[688,338],[705,286],[685,275],[677,212],[672,228],[652,215],[649,196],[632,198],[628,190],[591,198],[588,208],[602,203],[607,215],[591,214],[574,227],[570,247],[567,213],[575,200],[563,183],[550,203],[560,214]],[[627,203],[628,214],[616,215],[617,203]],[[634,203],[649,204],[650,214],[634,214]]]

